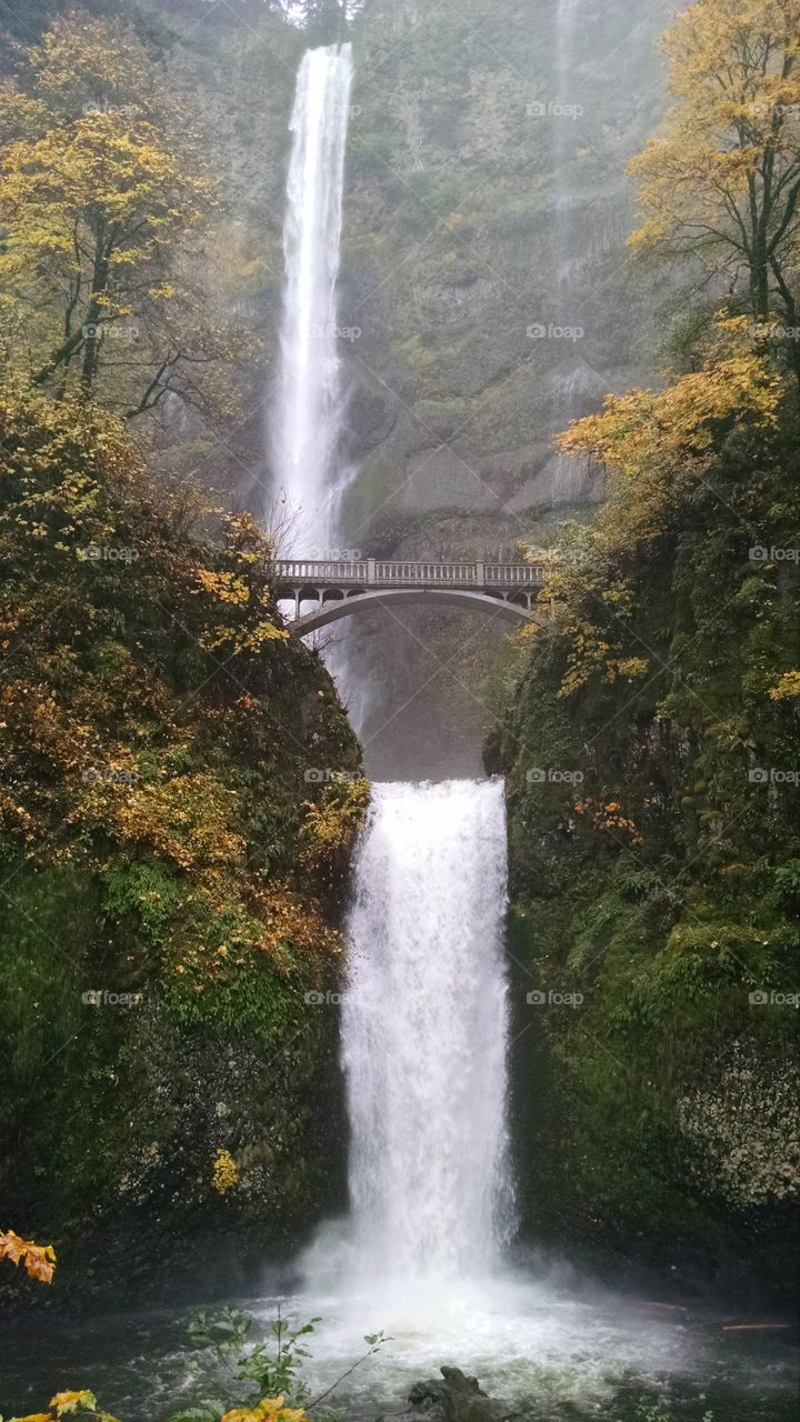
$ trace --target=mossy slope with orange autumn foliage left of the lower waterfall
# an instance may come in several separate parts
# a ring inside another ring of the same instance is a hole
[[[246,516],[204,535],[80,401],[0,414],[6,1217],[63,1253],[51,1297],[111,1250],[127,1297],[158,1258],[231,1288],[340,1185],[359,747]]]

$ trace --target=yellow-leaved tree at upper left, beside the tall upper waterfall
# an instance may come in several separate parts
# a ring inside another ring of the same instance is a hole
[[[231,354],[189,273],[215,206],[192,112],[120,20],[58,20],[0,92],[7,353],[127,415]],[[102,388],[98,377],[102,374]]]

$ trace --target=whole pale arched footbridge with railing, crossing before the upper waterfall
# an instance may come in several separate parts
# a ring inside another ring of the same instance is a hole
[[[290,630],[300,637],[369,607],[409,603],[465,607],[500,621],[537,621],[544,569],[537,563],[315,562],[276,559],[275,594],[293,602]],[[302,611],[313,603],[310,611]]]

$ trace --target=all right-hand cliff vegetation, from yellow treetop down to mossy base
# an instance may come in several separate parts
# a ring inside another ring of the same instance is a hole
[[[586,1241],[646,1234],[649,1257],[673,1258],[678,1241],[732,1251],[789,1284],[800,1190],[800,333],[770,331],[799,279],[800,134],[783,108],[797,7],[746,9],[743,38],[742,16],[732,34],[730,6],[702,0],[669,48],[679,91],[700,63],[710,87],[700,37],[730,77],[739,48],[753,53],[777,26],[759,92],[739,94],[716,144],[737,193],[763,192],[780,155],[784,209],[770,222],[791,239],[764,307],[757,255],[742,260],[736,230],[726,255],[719,230],[715,262],[736,260],[737,282],[713,323],[689,300],[700,319],[690,343],[683,327],[682,367],[660,392],[609,397],[564,435],[564,449],[602,465],[608,502],[591,528],[567,530],[549,565],[549,620],[505,688],[491,759],[508,776],[518,1017],[531,1028],[517,1081],[537,1160],[528,1223]],[[686,107],[695,101],[692,90]],[[746,101],[772,105],[773,122],[764,129],[759,107],[763,141],[729,166]],[[665,202],[686,202],[689,230],[696,159],[670,137],[642,161],[645,205],[663,182]],[[665,232],[666,219],[649,233],[656,246]],[[531,1072],[548,1082],[541,1105]]]

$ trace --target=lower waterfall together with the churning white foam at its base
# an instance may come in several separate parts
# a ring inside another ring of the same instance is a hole
[[[342,1057],[350,1214],[303,1260],[293,1318],[325,1320],[309,1365],[347,1381],[349,1415],[396,1408],[443,1362],[507,1396],[595,1406],[615,1379],[682,1371],[680,1325],[515,1274],[507,1132],[510,1001],[500,781],[376,785],[354,862]],[[266,1304],[269,1317],[275,1304]]]

